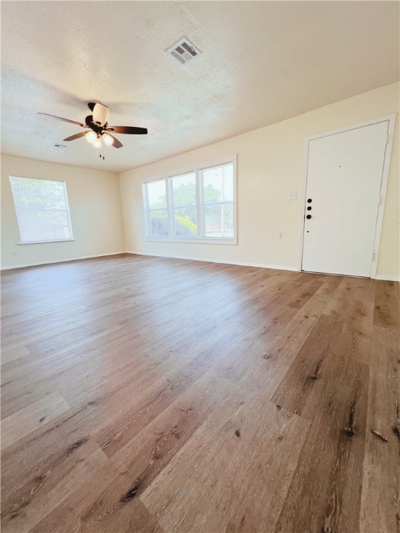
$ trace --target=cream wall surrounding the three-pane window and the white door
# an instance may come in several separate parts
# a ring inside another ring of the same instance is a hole
[[[300,192],[305,138],[396,112],[399,112],[399,83],[120,174],[126,250],[296,269],[302,238]],[[235,153],[238,154],[238,246],[145,240],[143,181]],[[294,189],[299,199],[288,201],[288,193]],[[276,239],[278,231],[283,232],[282,239]],[[378,276],[399,276],[399,117],[377,273]]]

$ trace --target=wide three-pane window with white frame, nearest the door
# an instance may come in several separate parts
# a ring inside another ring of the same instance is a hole
[[[143,184],[147,239],[236,244],[236,158]]]

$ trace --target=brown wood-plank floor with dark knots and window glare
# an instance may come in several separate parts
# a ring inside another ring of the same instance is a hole
[[[400,531],[398,283],[120,255],[2,287],[3,533]]]

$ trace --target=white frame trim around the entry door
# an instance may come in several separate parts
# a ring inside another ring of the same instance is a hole
[[[385,117],[379,117],[378,119],[370,119],[359,124],[352,124],[350,126],[344,126],[343,128],[338,128],[331,131],[326,131],[324,133],[318,133],[317,135],[312,135],[306,137],[304,152],[305,157],[303,158],[303,183],[301,187],[301,214],[300,214],[300,238],[299,238],[299,253],[297,260],[297,270],[301,271],[301,266],[303,263],[303,246],[304,246],[304,213],[306,212],[306,191],[307,191],[307,169],[308,169],[308,148],[310,141],[314,139],[319,139],[321,137],[328,137],[329,135],[336,135],[337,133],[344,133],[349,130],[356,130],[358,128],[363,128],[365,126],[372,126],[372,124],[378,124],[379,122],[389,121],[389,127],[387,130],[387,142],[385,147],[385,157],[383,159],[383,171],[381,178],[381,193],[380,198],[376,198],[376,201],[379,201],[378,206],[378,216],[376,217],[376,226],[375,226],[375,237],[374,237],[374,251],[371,257],[371,275],[370,277],[376,279],[376,268],[378,267],[378,256],[379,256],[379,246],[381,244],[381,232],[382,232],[382,223],[383,223],[383,213],[385,212],[385,200],[387,193],[387,180],[389,178],[389,169],[390,169],[390,159],[392,156],[392,146],[393,146],[393,137],[394,137],[394,124],[396,123],[396,113],[393,115],[386,115]]]

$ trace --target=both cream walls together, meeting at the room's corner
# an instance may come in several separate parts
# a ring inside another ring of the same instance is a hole
[[[1,268],[126,250],[149,255],[296,269],[301,242],[302,205],[299,199],[288,201],[287,198],[291,190],[301,192],[304,139],[398,111],[399,83],[396,83],[174,158],[126,171],[119,178],[108,172],[3,155]],[[141,187],[144,180],[235,153],[238,154],[238,246],[145,240]],[[19,232],[9,175],[65,181],[76,240],[53,244],[17,244]],[[283,232],[282,239],[276,239],[278,231]],[[12,251],[17,253],[16,257],[12,256]],[[397,117],[378,276],[398,278],[399,256]]]

